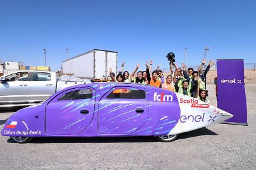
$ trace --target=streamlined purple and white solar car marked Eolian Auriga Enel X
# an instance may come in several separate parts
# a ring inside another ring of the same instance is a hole
[[[41,104],[15,112],[1,134],[17,143],[33,137],[145,135],[169,142],[180,133],[228,118],[232,114],[173,91],[100,82],[62,89]]]

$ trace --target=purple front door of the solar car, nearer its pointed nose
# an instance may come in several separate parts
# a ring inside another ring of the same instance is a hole
[[[84,130],[92,121],[95,106],[93,88],[74,88],[60,93],[45,108],[45,131],[71,135]]]

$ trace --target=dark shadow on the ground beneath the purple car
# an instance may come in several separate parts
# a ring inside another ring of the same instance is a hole
[[[200,135],[218,135],[207,128],[200,128],[184,134],[179,134],[177,140]],[[12,139],[8,143],[15,143]],[[139,137],[38,137],[29,143],[155,143],[160,142],[152,136]]]

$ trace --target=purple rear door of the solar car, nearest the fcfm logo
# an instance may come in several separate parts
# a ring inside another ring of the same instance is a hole
[[[99,101],[100,134],[131,134],[148,118],[148,93],[143,88],[116,87]]]

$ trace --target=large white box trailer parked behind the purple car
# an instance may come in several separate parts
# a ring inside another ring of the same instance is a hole
[[[94,49],[62,62],[63,73],[86,79],[110,79],[108,70],[117,70],[117,52]]]

